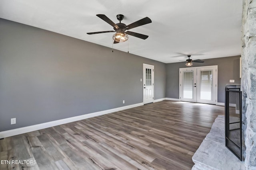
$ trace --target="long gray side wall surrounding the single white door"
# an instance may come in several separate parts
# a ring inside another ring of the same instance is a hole
[[[141,103],[143,63],[165,98],[164,63],[0,19],[0,131]]]

